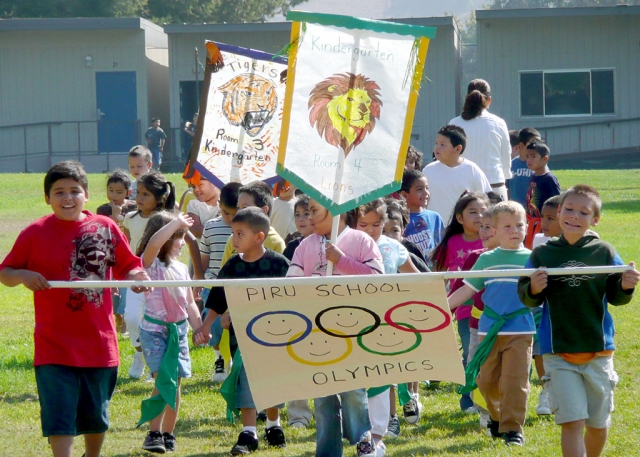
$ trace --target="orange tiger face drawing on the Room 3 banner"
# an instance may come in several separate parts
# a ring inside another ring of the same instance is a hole
[[[278,106],[276,85],[262,76],[238,75],[219,90],[223,94],[224,116],[231,125],[242,126],[252,137],[271,120]]]

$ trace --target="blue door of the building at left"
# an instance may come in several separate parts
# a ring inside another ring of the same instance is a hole
[[[96,72],[98,151],[127,152],[140,142],[135,71]]]

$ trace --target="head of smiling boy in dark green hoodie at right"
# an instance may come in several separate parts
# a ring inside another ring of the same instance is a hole
[[[571,187],[562,194],[558,211],[564,237],[570,241],[582,238],[589,226],[598,224],[601,210],[602,200],[595,188],[586,184]]]

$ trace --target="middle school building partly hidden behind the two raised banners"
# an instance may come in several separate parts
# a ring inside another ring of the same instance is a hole
[[[390,21],[437,28],[436,38],[429,44],[426,78],[420,89],[411,136],[412,144],[430,157],[436,132],[458,114],[462,103],[458,24],[451,16]],[[181,151],[184,157],[191,141],[181,130],[198,110],[206,63],[205,40],[277,54],[291,39],[291,23],[167,25],[164,31],[169,37],[170,130],[176,140],[172,149]]]

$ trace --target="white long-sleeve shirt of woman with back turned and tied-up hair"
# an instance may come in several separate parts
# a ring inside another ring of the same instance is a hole
[[[511,178],[511,143],[505,121],[485,109],[470,121],[458,116],[449,124],[464,129],[467,147],[463,157],[478,165],[491,184],[504,183]]]

